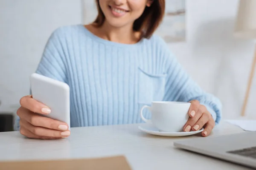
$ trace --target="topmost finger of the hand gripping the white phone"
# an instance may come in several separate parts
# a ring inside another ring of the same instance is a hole
[[[32,96],[24,96],[20,99],[20,105],[23,108],[27,108],[32,112],[41,113],[41,114],[49,114],[51,113],[51,109],[44,105],[41,102],[36,101],[32,98]]]

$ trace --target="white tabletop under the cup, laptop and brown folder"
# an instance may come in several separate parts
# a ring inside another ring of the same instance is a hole
[[[124,155],[133,170],[247,169],[173,146],[177,140],[201,137],[154,136],[138,129],[140,124],[73,127],[67,139],[27,139],[19,132],[0,133],[0,161],[33,159],[97,158]],[[221,122],[210,136],[242,133],[241,128]]]

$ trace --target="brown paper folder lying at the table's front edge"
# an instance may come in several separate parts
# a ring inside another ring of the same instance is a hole
[[[0,161],[1,170],[131,170],[125,156],[90,159]]]

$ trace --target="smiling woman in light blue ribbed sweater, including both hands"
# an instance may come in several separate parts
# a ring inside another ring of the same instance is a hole
[[[151,101],[191,102],[184,131],[221,118],[221,103],[185,73],[165,42],[153,35],[164,0],[96,0],[98,17],[86,26],[64,26],[50,36],[37,73],[70,85],[71,127],[142,122],[139,109]],[[39,116],[47,106],[24,96],[16,128],[29,138],[68,137],[67,124]],[[146,113],[145,117],[150,114]]]

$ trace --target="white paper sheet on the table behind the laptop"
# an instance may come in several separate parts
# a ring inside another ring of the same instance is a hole
[[[227,122],[237,125],[246,131],[256,131],[256,120],[227,120]]]

